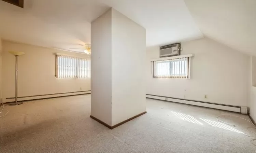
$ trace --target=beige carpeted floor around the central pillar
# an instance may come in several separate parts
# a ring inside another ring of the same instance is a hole
[[[90,116],[90,95],[6,106],[0,118],[1,153],[255,153],[250,123],[216,109],[147,99],[147,114],[113,130]],[[0,113],[1,116],[2,113]],[[253,130],[253,129],[251,129]],[[256,132],[256,131],[255,131]]]

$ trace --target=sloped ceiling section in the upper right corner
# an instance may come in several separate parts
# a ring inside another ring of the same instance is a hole
[[[256,56],[256,0],[185,0],[204,36]]]

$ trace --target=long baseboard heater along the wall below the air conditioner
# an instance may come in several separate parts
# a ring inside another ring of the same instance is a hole
[[[242,113],[241,112],[241,106],[233,106],[233,105],[218,104],[218,103],[211,103],[211,102],[204,102],[204,101],[197,101],[197,100],[189,100],[189,99],[181,99],[181,98],[174,98],[174,97],[166,97],[166,96],[157,96],[157,95],[151,95],[151,94],[146,94],[146,98]]]

